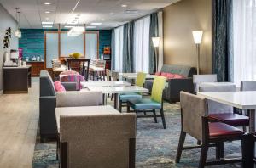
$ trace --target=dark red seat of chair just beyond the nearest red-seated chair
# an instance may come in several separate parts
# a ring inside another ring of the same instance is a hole
[[[238,115],[234,113],[211,114],[211,120],[224,122],[230,126],[249,126],[249,117],[245,115]]]

